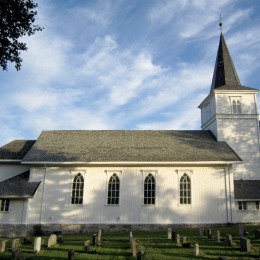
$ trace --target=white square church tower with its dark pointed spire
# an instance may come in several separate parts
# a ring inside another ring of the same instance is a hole
[[[199,108],[202,129],[227,142],[243,160],[233,167],[235,179],[260,180],[257,92],[241,85],[221,32],[210,93]]]

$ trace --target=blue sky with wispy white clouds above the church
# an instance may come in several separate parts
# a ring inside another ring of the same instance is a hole
[[[44,30],[22,39],[20,71],[0,71],[0,146],[44,130],[200,129],[220,14],[242,85],[259,89],[259,0],[34,2]]]

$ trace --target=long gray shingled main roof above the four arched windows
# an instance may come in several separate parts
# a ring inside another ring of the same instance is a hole
[[[210,131],[44,131],[23,162],[240,161]]]

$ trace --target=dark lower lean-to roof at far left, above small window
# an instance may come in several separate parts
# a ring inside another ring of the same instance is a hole
[[[41,182],[28,182],[30,171],[0,182],[0,198],[32,198]]]

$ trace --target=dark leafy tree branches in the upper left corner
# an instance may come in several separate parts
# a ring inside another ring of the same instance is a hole
[[[14,62],[15,68],[20,70],[20,54],[27,47],[19,38],[43,30],[33,24],[37,6],[32,0],[0,0],[0,66],[3,70],[7,70],[8,61]]]

